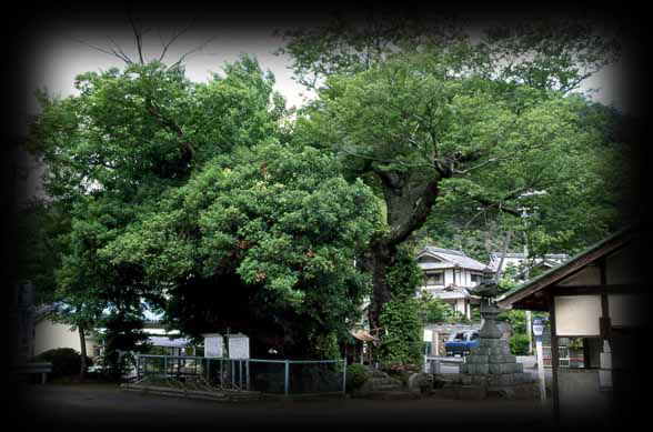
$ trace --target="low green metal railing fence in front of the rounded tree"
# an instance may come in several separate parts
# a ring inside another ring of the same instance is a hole
[[[134,375],[137,381],[201,381],[219,389],[272,394],[344,393],[346,362],[138,355]]]

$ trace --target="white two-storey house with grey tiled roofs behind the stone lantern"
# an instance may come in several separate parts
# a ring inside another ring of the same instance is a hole
[[[416,257],[424,272],[423,291],[449,303],[454,311],[468,320],[472,318],[471,305],[479,300],[470,289],[481,282],[488,265],[468,257],[462,251],[426,247]]]

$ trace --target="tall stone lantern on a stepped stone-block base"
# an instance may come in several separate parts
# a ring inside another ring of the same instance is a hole
[[[456,389],[456,396],[484,399],[499,395],[509,399],[535,399],[535,379],[524,373],[523,364],[510,352],[508,340],[501,338],[496,315],[501,313],[493,301],[499,293],[496,282],[486,275],[474,294],[481,298],[483,324],[479,331],[479,345],[471,350],[460,366],[460,374],[449,386]]]

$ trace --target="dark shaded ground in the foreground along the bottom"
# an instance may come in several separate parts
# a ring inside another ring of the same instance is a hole
[[[224,403],[127,392],[113,384],[22,385],[18,415],[47,430],[551,430],[539,402],[321,399]],[[346,426],[346,429],[342,429]],[[224,429],[223,429],[224,428]],[[423,429],[423,428],[420,428]],[[408,432],[408,431],[406,431]]]

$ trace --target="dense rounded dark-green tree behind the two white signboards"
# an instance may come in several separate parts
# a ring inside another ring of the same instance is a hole
[[[319,355],[369,292],[353,262],[376,209],[332,155],[262,144],[215,158],[101,253],[162,287],[167,317],[190,335],[229,328],[255,355]]]

